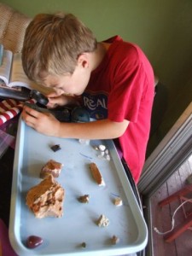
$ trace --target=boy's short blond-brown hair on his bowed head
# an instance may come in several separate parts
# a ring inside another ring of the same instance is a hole
[[[96,49],[90,29],[72,14],[39,14],[26,28],[22,64],[29,79],[42,81],[42,72],[73,73],[80,54]]]

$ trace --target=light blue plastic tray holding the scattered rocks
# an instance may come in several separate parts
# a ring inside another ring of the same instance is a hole
[[[93,147],[104,144],[111,160],[98,158]],[[54,152],[50,146],[60,144]],[[58,183],[66,191],[62,218],[35,218],[26,206],[26,193],[40,183],[39,172],[54,159],[64,167]],[[89,164],[95,162],[106,183],[96,184]],[[90,202],[78,201],[80,195],[90,195]],[[123,199],[123,206],[113,205],[114,196]],[[99,227],[96,220],[104,214],[107,227]],[[28,236],[40,236],[44,243],[34,249],[26,247]],[[111,237],[119,237],[112,245]],[[20,119],[15,148],[12,183],[9,239],[18,255],[120,255],[136,253],[146,247],[148,230],[131,185],[125,175],[113,141],[90,141],[89,145],[75,139],[46,137],[25,125]],[[81,247],[82,242],[86,247]]]

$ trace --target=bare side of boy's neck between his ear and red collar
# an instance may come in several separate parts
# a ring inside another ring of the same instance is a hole
[[[104,43],[104,42],[97,44],[96,50],[90,55],[91,63],[92,63],[92,68],[91,68],[92,71],[95,70],[96,67],[98,67],[102,63],[104,56],[108,52],[109,46],[110,44]]]

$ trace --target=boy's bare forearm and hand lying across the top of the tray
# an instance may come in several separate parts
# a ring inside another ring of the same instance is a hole
[[[39,113],[24,107],[22,118],[26,125],[48,136],[83,139],[112,139],[120,137],[129,125],[128,120],[113,122],[102,119],[88,123],[61,123],[50,113]]]

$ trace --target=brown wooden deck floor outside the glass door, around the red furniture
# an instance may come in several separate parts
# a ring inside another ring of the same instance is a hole
[[[158,203],[167,196],[172,195],[185,185],[186,178],[192,174],[192,156],[181,166],[166,183],[152,196],[152,226],[160,232],[166,232],[172,228],[172,214],[181,205],[181,201],[172,201],[172,203],[160,208]],[[192,197],[191,197],[192,198]],[[183,205],[185,212],[192,212],[192,203],[187,202]],[[184,211],[180,207],[175,214],[175,226],[183,222]],[[192,230],[186,230],[172,242],[166,242],[164,236],[159,235],[153,230],[153,256],[190,256],[192,255]]]

